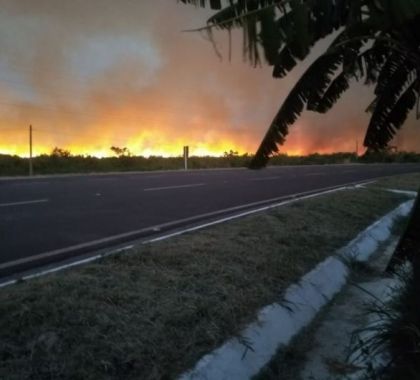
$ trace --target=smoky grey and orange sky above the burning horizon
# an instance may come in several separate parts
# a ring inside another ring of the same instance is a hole
[[[35,155],[253,153],[308,62],[273,79],[244,62],[238,33],[231,59],[216,34],[220,58],[205,36],[183,32],[211,14],[176,0],[0,0],[0,153],[27,156],[29,125]],[[360,148],[371,100],[355,83],[328,114],[305,112],[281,152]],[[420,150],[413,114],[393,145]]]

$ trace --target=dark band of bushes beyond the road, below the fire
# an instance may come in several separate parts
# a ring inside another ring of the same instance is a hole
[[[41,155],[33,159],[35,174],[93,173],[136,170],[180,170],[184,168],[182,157],[141,157],[120,156],[97,158],[92,156],[73,156],[71,154]],[[190,169],[237,168],[246,167],[252,156],[225,153],[222,157],[190,157]],[[277,154],[270,165],[324,165],[374,162],[420,162],[419,153],[371,153],[356,157],[354,153],[310,154],[307,156],[288,156]],[[0,155],[0,176],[28,174],[28,159],[18,156]]]

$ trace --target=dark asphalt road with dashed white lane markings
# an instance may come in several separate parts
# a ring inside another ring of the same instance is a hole
[[[277,167],[0,180],[0,264],[420,165]],[[120,241],[134,235],[122,236]],[[105,241],[102,245],[111,242]],[[93,247],[85,247],[93,249]]]

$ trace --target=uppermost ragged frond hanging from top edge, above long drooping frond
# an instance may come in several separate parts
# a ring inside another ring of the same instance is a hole
[[[343,27],[352,4],[350,0],[237,0],[229,3],[208,19],[207,26],[192,31],[242,28],[247,60],[254,66],[260,63],[258,50],[262,49],[266,61],[275,66],[275,76],[279,77],[289,71],[288,67],[294,67],[292,62],[305,59],[317,41]],[[286,58],[285,66],[283,58]]]

